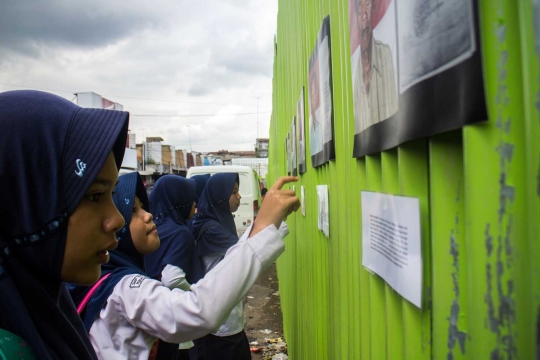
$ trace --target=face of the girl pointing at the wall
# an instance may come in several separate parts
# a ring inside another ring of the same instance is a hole
[[[159,236],[154,217],[143,209],[141,200],[135,196],[133,215],[129,223],[133,245],[139,254],[146,255],[159,247]]]

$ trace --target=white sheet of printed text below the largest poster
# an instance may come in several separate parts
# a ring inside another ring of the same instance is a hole
[[[422,308],[422,242],[417,198],[361,192],[362,265]]]

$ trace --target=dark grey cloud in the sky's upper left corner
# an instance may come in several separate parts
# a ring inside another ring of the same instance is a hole
[[[4,0],[0,46],[32,56],[45,46],[95,48],[159,24],[151,8],[129,2]]]

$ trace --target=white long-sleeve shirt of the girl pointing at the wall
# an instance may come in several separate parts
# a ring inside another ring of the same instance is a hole
[[[238,244],[191,291],[170,290],[141,275],[118,282],[90,328],[99,359],[148,359],[154,341],[197,339],[216,329],[244,297],[259,274],[284,251],[274,225]]]

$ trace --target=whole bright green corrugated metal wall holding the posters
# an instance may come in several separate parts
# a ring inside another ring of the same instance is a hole
[[[540,60],[532,1],[480,1],[489,122],[361,159],[352,158],[347,0],[279,1],[269,183],[287,171],[285,137],[328,14],[336,141],[336,160],[314,169],[308,156],[296,184],[298,194],[305,187],[306,217],[289,217],[278,260],[291,359],[537,358]],[[317,230],[317,184],[329,189],[330,239]],[[420,199],[424,310],[362,267],[361,190]]]

